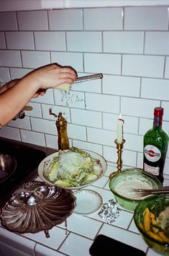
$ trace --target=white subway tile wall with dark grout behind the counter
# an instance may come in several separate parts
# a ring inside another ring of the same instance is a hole
[[[154,107],[164,107],[169,132],[169,6],[0,12],[0,83],[47,63],[72,66],[78,76],[103,79],[73,84],[70,93],[47,89],[30,100],[26,118],[0,136],[58,149],[56,118],[68,120],[70,146],[96,151],[116,166],[117,118],[124,118],[124,166],[142,167],[145,132]],[[169,174],[169,153],[165,162]]]

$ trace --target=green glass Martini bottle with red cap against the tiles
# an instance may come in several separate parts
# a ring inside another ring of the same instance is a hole
[[[163,184],[163,169],[168,150],[168,134],[162,129],[163,107],[155,107],[152,129],[144,136],[143,169],[155,175]]]

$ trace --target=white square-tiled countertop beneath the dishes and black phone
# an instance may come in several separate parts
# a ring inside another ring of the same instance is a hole
[[[114,172],[114,167],[108,163],[106,174],[93,185],[85,187],[94,190],[101,195],[103,203],[114,199],[114,195],[109,190],[109,174]],[[40,178],[37,178],[40,180]],[[169,175],[165,175],[163,185],[169,185]],[[89,248],[98,234],[105,234],[108,237],[119,240],[132,247],[137,247],[146,252],[147,256],[158,255],[147,247],[137,230],[133,213],[117,205],[121,211],[119,217],[113,224],[104,222],[98,215],[100,209],[88,215],[73,213],[68,219],[68,236],[65,237],[65,222],[50,229],[50,238],[45,237],[45,232],[36,234],[14,234],[0,227],[0,241],[10,244],[10,246],[22,250],[21,255],[31,256],[89,256]],[[83,250],[82,250],[83,249]],[[3,255],[4,256],[4,255]]]

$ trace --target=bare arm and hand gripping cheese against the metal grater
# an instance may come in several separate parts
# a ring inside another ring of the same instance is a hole
[[[0,89],[1,126],[12,120],[32,97],[37,97],[38,89],[57,87],[64,83],[72,84],[75,80],[76,72],[73,69],[50,64],[4,85],[4,89]]]

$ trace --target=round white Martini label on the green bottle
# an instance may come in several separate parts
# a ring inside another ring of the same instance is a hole
[[[147,145],[144,150],[145,157],[150,162],[157,162],[161,157],[161,152],[156,146]]]

